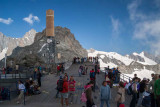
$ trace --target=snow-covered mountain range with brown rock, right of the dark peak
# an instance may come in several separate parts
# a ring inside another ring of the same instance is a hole
[[[88,50],[89,57],[99,57],[100,67],[119,67],[122,73],[133,76],[137,73],[139,77],[150,77],[153,72],[160,72],[160,59],[146,52],[132,53],[130,55],[120,55],[116,52],[103,52],[94,49]]]

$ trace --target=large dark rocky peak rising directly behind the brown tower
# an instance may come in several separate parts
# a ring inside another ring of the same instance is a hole
[[[54,60],[56,63],[65,63],[71,62],[74,57],[87,56],[87,51],[82,48],[68,28],[55,27],[55,38],[49,39],[45,34],[45,30],[36,33],[33,44],[15,48],[12,55],[9,56],[8,62],[12,60],[15,64],[25,66],[39,64],[48,66]],[[59,44],[55,45],[54,41],[55,43],[59,42]],[[57,54],[61,57],[58,58]],[[56,56],[55,59],[54,55]]]

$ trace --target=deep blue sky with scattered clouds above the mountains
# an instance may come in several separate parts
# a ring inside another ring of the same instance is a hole
[[[41,32],[47,9],[86,49],[160,54],[160,0],[0,0],[0,32]]]

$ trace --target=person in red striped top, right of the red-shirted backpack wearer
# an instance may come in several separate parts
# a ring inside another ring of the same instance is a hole
[[[73,102],[73,96],[75,94],[75,84],[76,84],[76,81],[74,80],[73,76],[71,76],[69,80],[69,98],[70,98],[71,104]]]

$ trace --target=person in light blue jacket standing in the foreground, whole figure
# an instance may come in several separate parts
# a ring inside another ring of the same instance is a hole
[[[106,81],[103,81],[101,89],[100,89],[100,100],[101,105],[103,107],[104,102],[106,102],[107,107],[110,107],[109,100],[111,99],[111,91],[109,85],[107,85]]]

